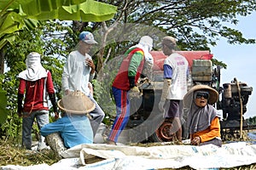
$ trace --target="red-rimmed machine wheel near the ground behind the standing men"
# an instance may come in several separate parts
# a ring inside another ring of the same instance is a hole
[[[170,132],[172,122],[166,120],[151,136],[152,142],[170,142],[175,134]]]

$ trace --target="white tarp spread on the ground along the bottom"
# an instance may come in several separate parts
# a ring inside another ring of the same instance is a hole
[[[195,169],[212,169],[219,167],[238,167],[256,163],[256,144],[245,142],[223,144],[221,148],[208,144],[205,146],[191,145],[160,145],[139,147],[109,144],[80,144],[63,155],[65,159],[49,166],[4,166],[6,169],[158,169],[180,168],[189,166]],[[84,159],[99,156],[104,161],[86,164]]]

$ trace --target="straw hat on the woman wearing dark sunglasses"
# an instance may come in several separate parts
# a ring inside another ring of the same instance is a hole
[[[207,85],[199,84],[199,85],[195,85],[192,88],[190,88],[189,92],[187,94],[185,94],[185,96],[183,97],[183,106],[185,108],[189,107],[189,104],[191,104],[191,99],[193,99],[193,94],[197,90],[206,90],[209,93],[210,96],[208,99],[208,103],[210,105],[213,105],[218,101],[217,90],[215,90],[214,88],[211,88]]]

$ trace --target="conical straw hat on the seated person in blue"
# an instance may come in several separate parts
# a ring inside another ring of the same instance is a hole
[[[63,96],[57,102],[58,107],[62,111],[73,114],[86,114],[93,111],[96,105],[80,91],[74,91]]]

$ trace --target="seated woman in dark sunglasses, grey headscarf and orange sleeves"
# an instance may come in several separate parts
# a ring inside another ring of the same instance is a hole
[[[188,111],[190,143],[193,145],[222,145],[217,110],[218,92],[207,85],[195,85],[184,96],[183,106]]]

